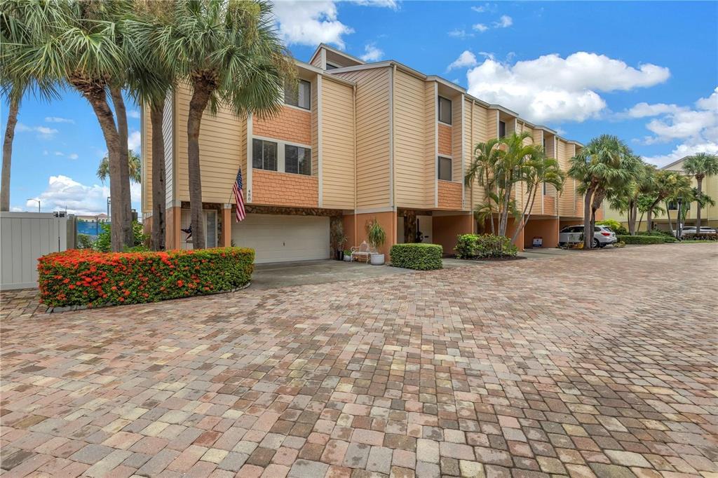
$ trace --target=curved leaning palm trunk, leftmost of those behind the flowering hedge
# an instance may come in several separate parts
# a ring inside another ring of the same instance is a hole
[[[110,164],[110,197],[111,211],[110,217],[113,223],[110,233],[110,245],[113,252],[121,252],[125,240],[123,236],[122,225],[130,221],[131,217],[126,214],[125,208],[122,206],[122,187],[121,187],[121,150],[120,135],[115,126],[115,118],[113,116],[110,105],[107,102],[107,94],[104,85],[98,85],[92,81],[85,81],[81,78],[70,78],[70,83],[82,93],[93,111],[97,116],[102,134],[105,137],[107,145],[107,156]],[[129,174],[128,174],[129,175]],[[131,246],[131,244],[129,244]]]

